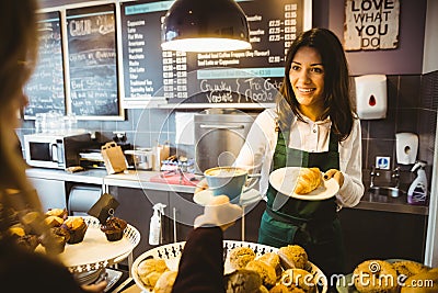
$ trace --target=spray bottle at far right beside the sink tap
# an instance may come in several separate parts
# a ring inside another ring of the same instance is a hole
[[[407,203],[416,205],[425,205],[427,200],[427,178],[425,171],[426,162],[417,161],[412,167],[412,172],[417,171],[417,177],[411,183],[407,190]]]

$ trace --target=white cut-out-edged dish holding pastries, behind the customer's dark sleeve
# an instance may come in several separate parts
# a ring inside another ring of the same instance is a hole
[[[132,263],[131,267],[131,275],[136,284],[142,290],[142,292],[147,293],[153,293],[153,290],[151,288],[145,286],[145,284],[141,282],[140,277],[138,275],[138,266],[140,264],[141,261],[148,258],[161,258],[164,259],[165,263],[168,264],[170,270],[176,271],[178,268],[178,262],[180,258],[183,253],[185,241],[181,243],[175,243],[175,244],[169,244],[169,245],[163,245],[155,247],[153,249],[150,249],[142,255],[140,255]],[[235,241],[235,240],[223,240],[223,249],[227,251],[227,259],[229,258],[229,252],[235,248],[235,247],[250,247],[254,250],[256,257],[263,256],[266,252],[277,252],[278,248],[266,246],[266,245],[261,245],[261,244],[254,244],[254,243],[246,243],[246,241]],[[309,261],[310,262],[310,261]],[[327,280],[324,275],[324,273],[313,263],[311,263],[311,271],[310,273],[314,277],[314,280],[320,280],[322,283],[322,289],[321,291],[318,291],[318,293],[326,293],[327,292]],[[230,268],[229,260],[226,260],[224,262],[224,273],[230,273],[232,272],[233,269]]]

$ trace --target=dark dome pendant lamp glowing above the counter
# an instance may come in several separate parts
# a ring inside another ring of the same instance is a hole
[[[164,50],[251,48],[246,16],[234,0],[176,0],[165,14],[161,40]]]

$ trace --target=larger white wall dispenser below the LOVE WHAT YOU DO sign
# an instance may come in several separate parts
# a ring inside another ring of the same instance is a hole
[[[387,76],[367,75],[355,78],[356,111],[361,120],[387,117]]]

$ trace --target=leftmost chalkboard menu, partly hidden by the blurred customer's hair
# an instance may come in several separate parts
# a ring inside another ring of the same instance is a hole
[[[38,64],[24,89],[30,98],[25,119],[48,111],[66,112],[60,13],[42,13],[38,31]]]

